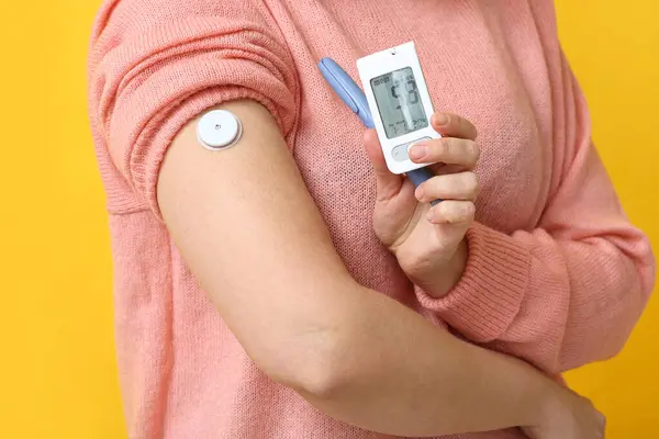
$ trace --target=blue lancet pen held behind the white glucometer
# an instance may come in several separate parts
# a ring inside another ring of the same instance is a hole
[[[366,94],[353,78],[332,58],[321,59],[319,69],[334,92],[353,110],[353,113],[357,114],[361,123],[367,128],[373,128],[373,119],[368,108]],[[428,168],[414,169],[407,172],[406,176],[415,187],[434,177]],[[435,205],[440,201],[434,200],[431,205]]]

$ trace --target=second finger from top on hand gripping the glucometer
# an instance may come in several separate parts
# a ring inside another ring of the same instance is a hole
[[[416,164],[442,162],[473,169],[480,158],[480,148],[473,140],[443,137],[420,142],[410,148],[410,159]]]

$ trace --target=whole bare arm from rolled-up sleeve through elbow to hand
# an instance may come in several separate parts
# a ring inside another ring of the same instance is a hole
[[[389,435],[522,426],[540,439],[602,437],[585,399],[358,284],[272,116],[252,101],[222,108],[243,122],[238,145],[201,148],[192,121],[166,155],[158,201],[186,262],[264,373],[328,416]]]

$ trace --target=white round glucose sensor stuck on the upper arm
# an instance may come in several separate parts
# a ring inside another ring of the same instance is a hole
[[[243,125],[231,111],[213,110],[201,116],[197,124],[197,138],[210,150],[228,148],[238,142]]]

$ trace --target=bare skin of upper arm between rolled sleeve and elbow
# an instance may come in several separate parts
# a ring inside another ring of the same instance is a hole
[[[272,116],[253,101],[223,108],[241,119],[242,139],[209,151],[196,138],[196,121],[188,124],[166,155],[158,203],[247,352],[261,364],[290,363],[282,349],[309,356],[320,348],[351,278]],[[281,372],[282,364],[270,365]]]

